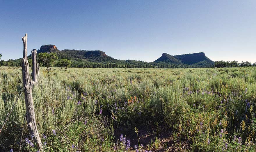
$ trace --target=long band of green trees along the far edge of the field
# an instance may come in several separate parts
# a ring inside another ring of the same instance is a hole
[[[0,59],[2,54],[0,53]],[[208,65],[168,65],[163,63],[153,63],[153,64],[122,64],[122,63],[102,63],[102,62],[85,62],[80,60],[68,60],[66,58],[59,59],[56,53],[38,53],[38,63],[40,67],[47,67],[47,70],[50,70],[51,67],[65,68],[67,67],[80,67],[80,68],[205,68],[209,67]],[[31,55],[28,56],[29,67],[32,67]],[[16,60],[1,60],[0,66],[7,67],[19,67],[21,66],[21,58]],[[255,67],[256,62],[251,64],[250,62],[241,62],[238,61],[216,61],[214,67]]]

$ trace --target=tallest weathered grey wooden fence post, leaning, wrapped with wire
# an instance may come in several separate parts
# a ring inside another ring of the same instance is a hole
[[[43,151],[42,142],[39,137],[36,121],[35,110],[33,104],[33,82],[29,76],[29,62],[27,60],[27,34],[22,37],[23,41],[23,58],[22,58],[22,81],[24,87],[24,97],[26,103],[26,121],[29,127],[29,132],[33,136],[34,141],[37,143],[40,151]]]

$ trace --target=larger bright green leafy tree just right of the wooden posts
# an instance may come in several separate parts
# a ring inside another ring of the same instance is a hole
[[[47,70],[49,70],[49,67],[54,66],[56,60],[58,60],[58,56],[56,53],[38,53],[38,62],[41,63],[42,66],[47,67]]]

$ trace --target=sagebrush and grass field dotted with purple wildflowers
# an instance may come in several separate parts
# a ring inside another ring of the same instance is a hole
[[[256,151],[255,67],[40,70],[45,151]],[[18,99],[0,151],[38,151],[21,88],[21,67],[0,67],[0,127]]]

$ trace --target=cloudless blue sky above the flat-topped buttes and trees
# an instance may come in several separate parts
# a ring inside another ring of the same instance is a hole
[[[256,62],[256,1],[0,0],[2,59],[43,44],[152,62],[163,52]]]

